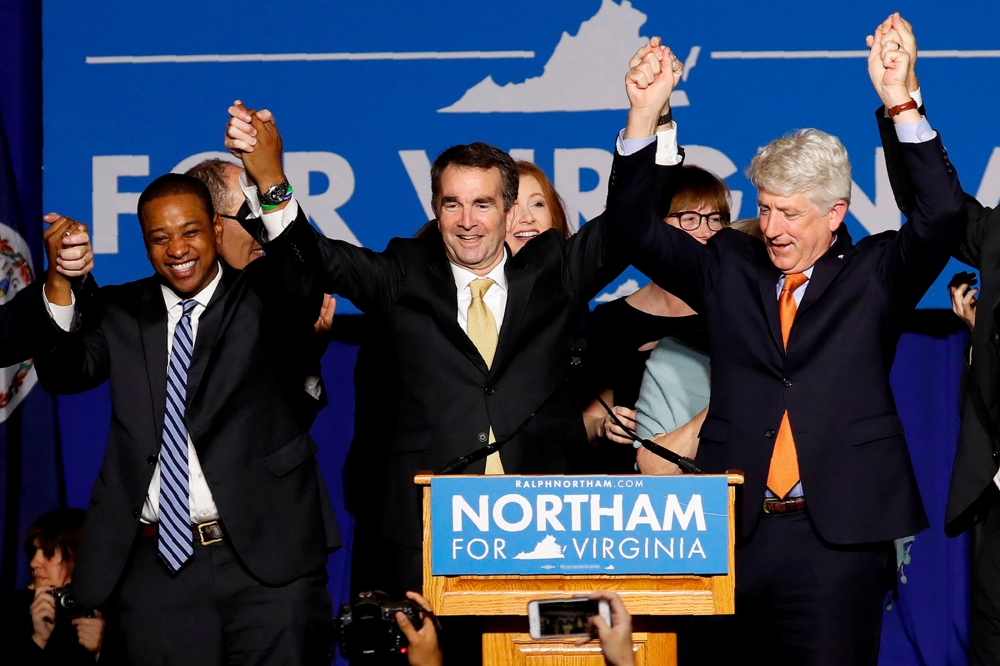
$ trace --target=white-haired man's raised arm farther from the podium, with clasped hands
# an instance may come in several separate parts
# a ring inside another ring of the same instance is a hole
[[[965,195],[941,138],[930,128],[910,96],[915,81],[915,49],[909,24],[890,17],[868,37],[868,73],[892,117],[899,138],[900,164],[913,183],[913,209],[885,255],[884,284],[903,305],[915,307],[958,245]]]

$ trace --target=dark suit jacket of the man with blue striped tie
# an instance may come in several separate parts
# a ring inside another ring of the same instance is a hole
[[[307,239],[302,246],[302,233]],[[285,584],[326,564],[315,454],[301,410],[299,353],[321,293],[302,270],[312,247],[300,217],[244,271],[223,266],[199,320],[186,420],[233,548],[255,577]],[[80,330],[41,322],[39,378],[53,393],[110,382],[108,448],[77,558],[80,601],[104,601],[121,576],[160,449],[166,403],[167,313],[153,276],[102,288]],[[332,516],[332,512],[326,515]]]

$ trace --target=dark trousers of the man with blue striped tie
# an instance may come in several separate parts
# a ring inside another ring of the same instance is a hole
[[[226,542],[201,546],[177,574],[155,538],[139,537],[116,606],[129,662],[330,664],[333,604],[326,569],[288,585],[253,578]]]

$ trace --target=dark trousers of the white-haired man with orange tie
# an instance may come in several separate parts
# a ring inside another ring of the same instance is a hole
[[[891,543],[823,542],[808,511],[763,514],[737,548],[736,616],[720,626],[750,663],[877,666],[895,563]]]

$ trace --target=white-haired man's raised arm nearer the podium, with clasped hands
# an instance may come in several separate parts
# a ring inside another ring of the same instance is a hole
[[[632,264],[697,311],[711,284],[712,244],[665,224],[657,213],[654,133],[660,111],[680,78],[681,64],[653,38],[630,62],[625,77],[631,108],[619,135],[608,187],[608,222]]]

